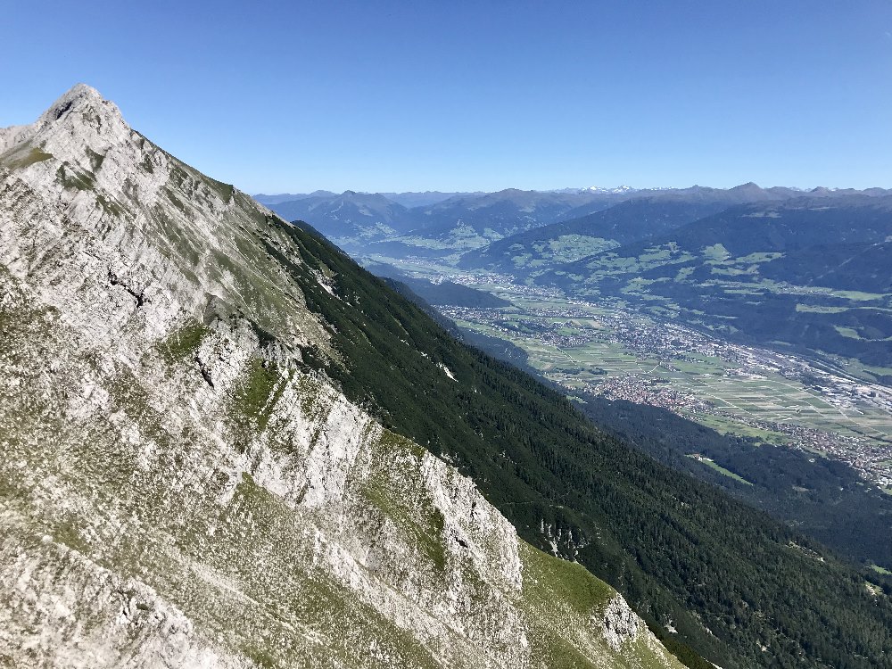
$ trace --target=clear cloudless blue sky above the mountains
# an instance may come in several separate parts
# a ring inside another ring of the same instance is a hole
[[[250,193],[892,186],[892,0],[5,5],[0,126],[83,81]]]

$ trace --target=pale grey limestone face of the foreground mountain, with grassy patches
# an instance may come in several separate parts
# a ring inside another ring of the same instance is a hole
[[[305,364],[270,249],[92,88],[0,130],[0,664],[677,665]]]

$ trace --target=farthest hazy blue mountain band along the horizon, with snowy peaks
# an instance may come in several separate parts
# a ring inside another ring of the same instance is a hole
[[[624,222],[616,219],[615,229],[623,230],[619,236],[605,237],[597,231],[589,234],[587,226],[597,227],[597,219],[590,219],[588,222],[582,219],[622,202],[652,200],[667,208],[672,208],[670,203],[676,202],[680,206],[690,205],[690,211],[701,211],[706,215],[733,204],[780,202],[805,194],[796,188],[761,188],[748,183],[728,189],[691,186],[638,190],[630,186],[592,186],[558,191],[508,188],[497,193],[469,194],[368,194],[355,191],[334,194],[317,191],[312,194],[260,194],[257,198],[287,220],[300,219],[310,223],[351,252],[445,257],[482,249],[488,244],[498,243],[501,239],[535,228],[569,221],[574,221],[574,224],[543,232],[541,241],[547,240],[548,235],[554,232],[558,235],[582,235],[604,239],[611,244],[624,244],[638,234],[635,230],[643,235],[660,231],[655,228],[648,232],[647,221],[643,219],[636,219],[634,229],[625,229]],[[807,194],[822,198],[850,197],[853,194],[878,197],[892,194],[892,191],[880,188],[865,191],[815,188]],[[698,210],[698,207],[702,209]],[[643,211],[644,208],[646,207],[640,209]],[[636,215],[630,211],[629,216],[635,218]],[[679,224],[683,222],[689,221],[681,220]],[[534,243],[539,239],[539,235],[528,235],[520,241],[522,244]],[[488,252],[498,252],[499,248],[494,247]],[[594,250],[592,247],[585,248]],[[467,265],[467,261],[465,264]]]

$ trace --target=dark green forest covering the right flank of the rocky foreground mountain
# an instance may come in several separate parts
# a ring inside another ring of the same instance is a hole
[[[312,228],[268,222],[293,241],[264,240],[268,252],[299,281],[343,356],[308,348],[307,368],[448,456],[524,540],[550,549],[550,538],[624,592],[680,656],[688,645],[726,669],[888,663],[888,597],[871,594],[862,574],[820,544],[660,464],[532,376],[459,343]],[[313,274],[323,265],[339,299]]]

